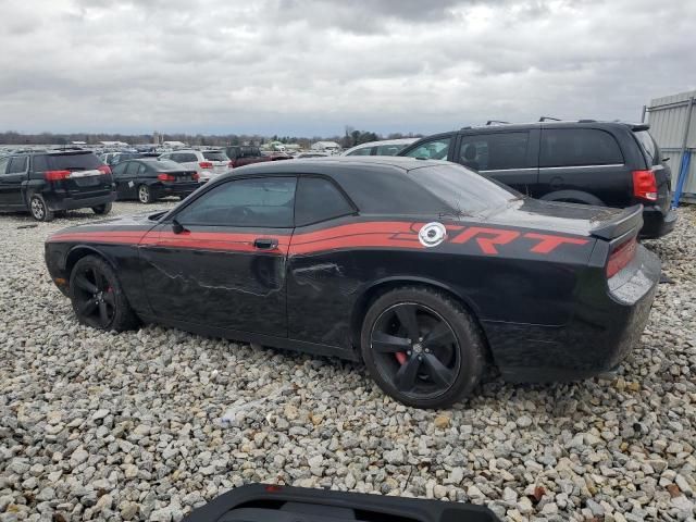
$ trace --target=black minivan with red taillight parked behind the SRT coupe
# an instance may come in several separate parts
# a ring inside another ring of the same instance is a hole
[[[647,124],[537,122],[464,127],[423,138],[397,156],[449,160],[533,198],[644,206],[645,238],[674,228],[671,171]]]

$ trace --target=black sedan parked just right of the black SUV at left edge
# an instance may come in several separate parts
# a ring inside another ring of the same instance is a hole
[[[171,160],[144,158],[127,160],[113,167],[119,199],[137,199],[141,203],[165,196],[185,198],[199,187],[198,173]]]

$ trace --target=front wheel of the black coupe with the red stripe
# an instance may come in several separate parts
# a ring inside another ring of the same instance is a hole
[[[70,298],[77,321],[87,326],[123,332],[138,325],[115,271],[97,256],[86,256],[75,263]]]

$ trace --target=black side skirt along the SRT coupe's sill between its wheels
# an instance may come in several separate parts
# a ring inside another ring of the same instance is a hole
[[[338,348],[336,346],[319,345],[315,343],[307,343],[303,340],[288,339],[287,337],[276,337],[273,335],[257,334],[253,332],[240,332],[238,330],[228,330],[219,326],[188,323],[185,321],[162,320],[149,315],[139,314],[139,318],[145,323],[161,324],[163,326],[183,330],[184,332],[190,332],[191,334],[201,335],[203,337],[221,337],[223,339],[229,340],[257,343],[261,346],[283,348],[286,350],[311,353],[313,356],[337,357],[339,359],[346,359],[349,361],[360,360],[357,350],[346,350],[345,348]]]

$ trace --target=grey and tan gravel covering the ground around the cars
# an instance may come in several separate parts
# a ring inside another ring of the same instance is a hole
[[[492,381],[447,411],[394,402],[356,364],[79,326],[44,239],[96,217],[0,215],[0,521],[177,521],[256,481],[470,500],[513,521],[694,520],[696,208],[680,213],[648,245],[673,284],[617,375]]]

